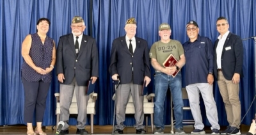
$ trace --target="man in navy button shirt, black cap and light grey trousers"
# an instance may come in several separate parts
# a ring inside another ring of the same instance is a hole
[[[206,115],[211,123],[212,134],[220,134],[220,125],[218,124],[218,112],[216,102],[212,94],[213,72],[213,45],[209,38],[198,35],[198,24],[191,20],[186,25],[189,40],[183,44],[186,65],[185,78],[186,90],[188,92],[191,112],[195,120],[195,130],[191,134],[205,134],[204,123],[200,111],[201,93]]]

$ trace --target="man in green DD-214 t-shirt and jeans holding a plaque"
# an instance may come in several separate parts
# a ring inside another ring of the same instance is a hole
[[[184,49],[179,41],[171,40],[171,28],[169,24],[163,23],[159,26],[159,36],[161,40],[155,42],[151,49],[149,56],[151,58],[152,67],[156,70],[155,74],[155,94],[156,101],[154,102],[154,125],[156,126],[155,134],[163,134],[164,123],[164,100],[168,87],[171,90],[173,104],[174,104],[174,116],[176,120],[175,134],[184,134],[183,131],[183,100],[182,100],[182,86],[181,86],[181,74],[173,74],[186,63],[184,56]],[[172,54],[177,63],[172,67],[164,67],[166,59]]]

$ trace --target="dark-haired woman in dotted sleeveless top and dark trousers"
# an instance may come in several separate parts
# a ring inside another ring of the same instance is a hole
[[[42,131],[45,101],[52,80],[56,61],[54,40],[47,36],[51,22],[42,18],[36,23],[37,33],[26,36],[22,42],[22,83],[25,93],[24,122],[28,135],[46,135]],[[36,113],[36,129],[33,130],[33,114]]]

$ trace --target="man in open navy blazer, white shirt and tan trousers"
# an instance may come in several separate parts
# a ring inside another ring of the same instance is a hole
[[[221,134],[241,134],[241,103],[239,82],[243,77],[243,43],[239,36],[228,31],[228,20],[219,17],[216,22],[220,36],[214,44],[214,75],[225,104],[228,127]]]

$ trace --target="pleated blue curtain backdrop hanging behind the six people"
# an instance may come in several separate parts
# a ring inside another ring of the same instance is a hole
[[[99,72],[96,90],[98,93],[95,125],[113,123],[113,85],[108,73],[109,56],[112,41],[124,36],[125,21],[135,17],[137,21],[136,36],[148,42],[148,48],[159,40],[158,26],[167,22],[172,28],[172,39],[182,44],[188,40],[186,23],[196,20],[200,35],[209,37],[212,42],[218,37],[216,19],[227,17],[230,32],[247,38],[256,35],[256,0],[4,0],[0,1],[0,125],[22,124],[24,114],[24,89],[20,79],[20,67],[23,63],[20,54],[21,44],[26,35],[36,32],[36,21],[41,17],[51,20],[48,35],[56,45],[61,35],[71,32],[72,17],[83,17],[86,29],[84,34],[97,40],[99,49]],[[255,96],[255,45],[253,40],[246,40],[244,45],[244,77],[241,81],[240,100],[242,117]],[[198,65],[200,66],[200,65]],[[154,70],[152,68],[152,75]],[[47,97],[44,125],[56,124],[56,99],[54,93],[59,91],[55,70]],[[184,75],[183,75],[184,76]],[[183,81],[184,86],[184,81]],[[154,77],[147,88],[154,92]],[[214,83],[214,98],[218,107],[220,125],[228,125],[225,107]],[[166,97],[164,123],[170,124],[170,92]],[[210,125],[205,115],[204,104],[201,104],[205,125]],[[249,125],[254,117],[255,104],[248,111],[243,122]],[[191,119],[191,113],[184,113],[184,118]],[[76,124],[73,118],[71,124]],[[90,123],[90,122],[88,122]],[[134,125],[133,115],[127,115],[126,125]]]

